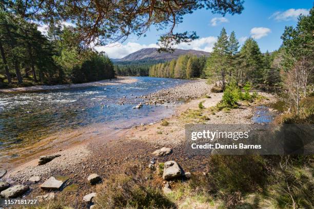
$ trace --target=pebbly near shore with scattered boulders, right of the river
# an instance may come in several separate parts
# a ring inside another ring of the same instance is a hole
[[[256,104],[243,103],[239,109],[218,111],[213,114],[210,107],[217,105],[222,93],[211,93],[210,88],[205,80],[194,80],[171,89],[143,95],[141,99],[145,99],[147,105],[176,102],[182,98],[186,102],[178,107],[172,117],[165,120],[122,130],[114,135],[108,135],[107,138],[100,136],[89,139],[87,143],[54,153],[53,157],[42,158],[39,161],[44,160],[45,163],[42,165],[38,165],[38,159],[34,159],[8,171],[0,181],[11,186],[26,185],[29,189],[24,193],[24,197],[27,198],[53,199],[67,196],[68,200],[75,202],[76,208],[88,208],[90,202],[87,201],[96,195],[96,186],[94,183],[91,184],[92,179],[96,178],[95,181],[101,182],[101,179],[120,173],[123,166],[133,162],[138,162],[146,168],[154,168],[161,162],[166,163],[164,170],[166,173],[163,174],[165,180],[173,176],[188,178],[190,172],[206,173],[208,169],[204,166],[206,157],[191,158],[186,153],[185,124],[200,121],[249,124],[252,123],[254,111],[252,106],[276,101],[272,95],[263,93],[267,99]],[[200,102],[203,102],[205,107],[202,110],[199,109]],[[193,111],[197,111],[198,114],[191,117],[190,113]],[[45,190],[48,183],[49,185],[56,183],[59,187],[51,193]],[[43,184],[46,187],[43,187]],[[169,192],[169,183],[166,182],[163,186],[163,191]],[[20,189],[25,188],[22,186]]]

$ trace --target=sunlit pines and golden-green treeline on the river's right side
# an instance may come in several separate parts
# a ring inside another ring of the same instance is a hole
[[[270,86],[280,82],[279,69],[273,65],[272,54],[261,53],[257,41],[248,38],[239,50],[239,41],[235,33],[227,35],[223,28],[214,44],[210,57],[182,55],[164,64],[153,65],[149,75],[170,78],[210,78],[221,82],[222,89],[234,81],[241,85],[247,81]]]

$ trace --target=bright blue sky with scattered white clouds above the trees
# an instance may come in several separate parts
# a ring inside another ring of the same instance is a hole
[[[180,44],[178,48],[211,51],[221,29],[225,27],[228,34],[235,32],[240,44],[251,36],[258,41],[262,52],[271,52],[280,47],[280,36],[285,26],[296,26],[298,15],[308,14],[312,5],[311,1],[247,0],[242,14],[226,14],[224,17],[212,14],[210,10],[197,10],[184,16],[183,23],[175,28],[175,32],[196,31],[200,38],[192,41],[190,45]],[[105,51],[111,58],[121,58],[142,48],[156,47],[160,34],[162,31],[151,27],[146,37],[130,36],[121,45],[96,49]]]

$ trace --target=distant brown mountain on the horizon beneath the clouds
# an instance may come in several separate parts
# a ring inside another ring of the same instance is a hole
[[[209,52],[204,51],[197,51],[197,50],[184,50],[184,49],[176,49],[174,52],[158,52],[157,48],[146,48],[146,49],[140,49],[139,51],[133,52],[121,59],[112,59],[114,62],[120,62],[120,61],[144,61],[144,60],[171,60],[176,59],[180,55],[183,54],[193,54],[200,56],[209,56]]]

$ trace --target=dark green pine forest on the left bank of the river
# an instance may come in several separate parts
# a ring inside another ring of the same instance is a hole
[[[111,60],[83,47],[73,27],[37,24],[0,8],[0,87],[81,83],[114,77]]]

